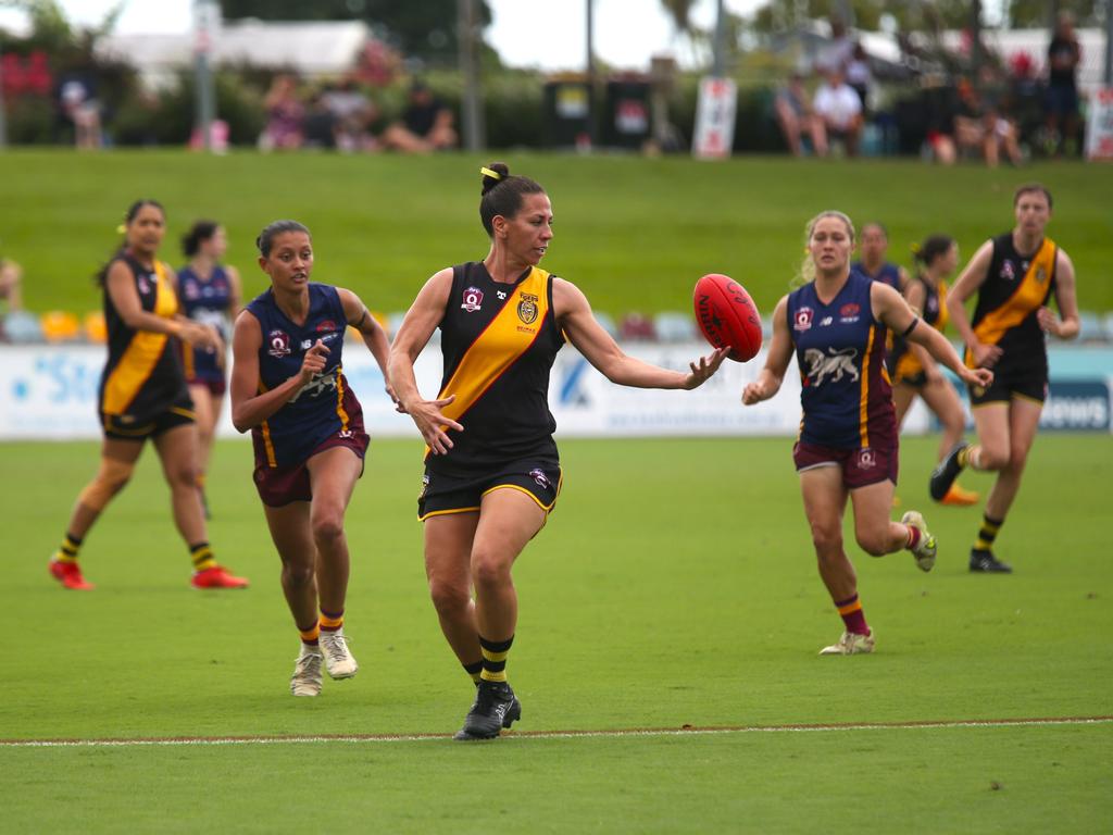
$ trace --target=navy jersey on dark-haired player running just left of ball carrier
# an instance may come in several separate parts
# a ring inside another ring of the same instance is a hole
[[[277,412],[252,430],[256,464],[290,466],[305,461],[331,435],[363,431],[363,409],[344,377],[342,354],[347,322],[336,288],[311,283],[304,324],[286,317],[272,291],[256,296],[247,311],[259,321],[258,392],[275,389],[302,370],[305,353],[321,340],[328,347],[325,369]]]

